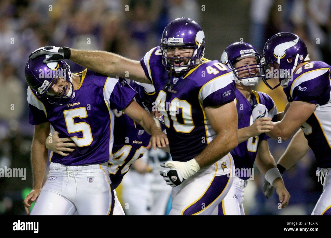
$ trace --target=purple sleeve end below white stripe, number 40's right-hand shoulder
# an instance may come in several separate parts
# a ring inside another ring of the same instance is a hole
[[[203,100],[203,106],[217,106],[233,101],[236,98],[235,83],[230,82],[228,85],[219,88],[218,90],[210,93]]]

